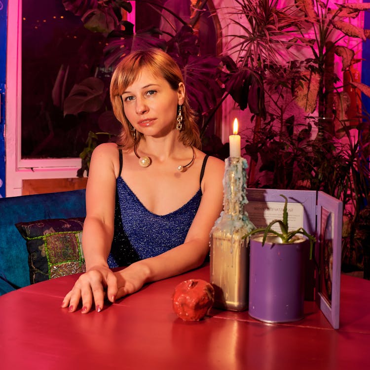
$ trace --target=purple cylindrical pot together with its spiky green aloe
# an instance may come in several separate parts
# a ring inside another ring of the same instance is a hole
[[[302,227],[289,230],[288,198],[281,196],[283,219],[245,235],[250,237],[249,314],[275,323],[303,318],[305,262],[315,242]]]

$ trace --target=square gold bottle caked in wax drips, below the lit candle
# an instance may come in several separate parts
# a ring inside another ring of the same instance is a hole
[[[244,211],[247,200],[247,161],[225,159],[223,211],[211,230],[210,281],[217,308],[243,311],[248,307],[249,250],[243,236],[254,229]]]

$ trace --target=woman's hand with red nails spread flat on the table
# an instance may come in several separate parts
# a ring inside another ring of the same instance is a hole
[[[82,313],[90,311],[93,301],[100,312],[107,296],[111,302],[117,295],[117,278],[108,266],[93,266],[74,283],[72,290],[64,297],[62,307],[74,312],[82,299]]]

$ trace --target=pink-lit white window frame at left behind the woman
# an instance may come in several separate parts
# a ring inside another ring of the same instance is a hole
[[[127,20],[135,19],[133,10]],[[23,180],[76,178],[80,158],[31,158],[21,155],[22,0],[8,2],[5,93],[5,195],[22,195]]]

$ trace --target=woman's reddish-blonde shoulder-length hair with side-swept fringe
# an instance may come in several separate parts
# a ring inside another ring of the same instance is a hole
[[[143,68],[154,75],[161,75],[175,91],[179,83],[184,83],[184,78],[177,63],[161,49],[148,49],[132,52],[125,56],[117,65],[111,78],[111,105],[113,113],[122,124],[121,132],[118,135],[117,144],[121,148],[132,148],[136,142],[143,138],[143,134],[137,132],[136,139],[132,136],[132,125],[126,118],[122,94],[139,76]],[[179,108],[179,107],[178,107]],[[201,148],[199,128],[195,121],[195,113],[190,108],[185,95],[184,104],[181,107],[183,115],[183,128],[180,131],[179,140],[185,146]],[[174,119],[174,126],[176,119]]]

